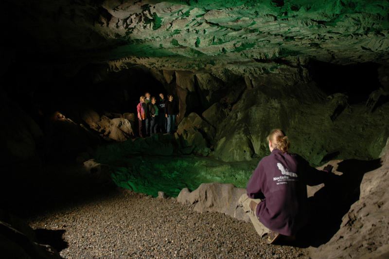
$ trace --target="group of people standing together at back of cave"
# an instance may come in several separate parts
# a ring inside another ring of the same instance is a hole
[[[173,95],[159,93],[159,99],[146,92],[137,105],[139,136],[148,137],[155,133],[173,133],[175,131],[178,105]]]

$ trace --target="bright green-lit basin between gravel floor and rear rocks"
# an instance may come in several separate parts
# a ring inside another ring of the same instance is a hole
[[[257,162],[224,163],[195,156],[131,156],[109,162],[116,185],[153,197],[176,197],[182,188],[219,182],[245,188]]]

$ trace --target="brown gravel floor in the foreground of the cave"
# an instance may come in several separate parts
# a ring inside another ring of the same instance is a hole
[[[62,235],[67,244],[60,239],[62,244],[52,245],[62,249],[63,258],[309,257],[306,249],[267,245],[251,223],[123,189],[41,213],[28,223],[46,229],[40,231],[49,233],[48,242]]]

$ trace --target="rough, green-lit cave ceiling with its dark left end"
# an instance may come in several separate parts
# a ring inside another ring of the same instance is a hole
[[[206,70],[386,64],[388,14],[383,0],[22,0],[6,1],[2,19],[31,58]]]

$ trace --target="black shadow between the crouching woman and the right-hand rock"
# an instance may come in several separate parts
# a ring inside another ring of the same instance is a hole
[[[381,160],[349,159],[338,163],[340,176],[332,175],[325,186],[308,199],[311,204],[311,220],[299,233],[301,247],[328,242],[339,230],[343,216],[350,206],[359,200],[363,175],[381,166]]]

